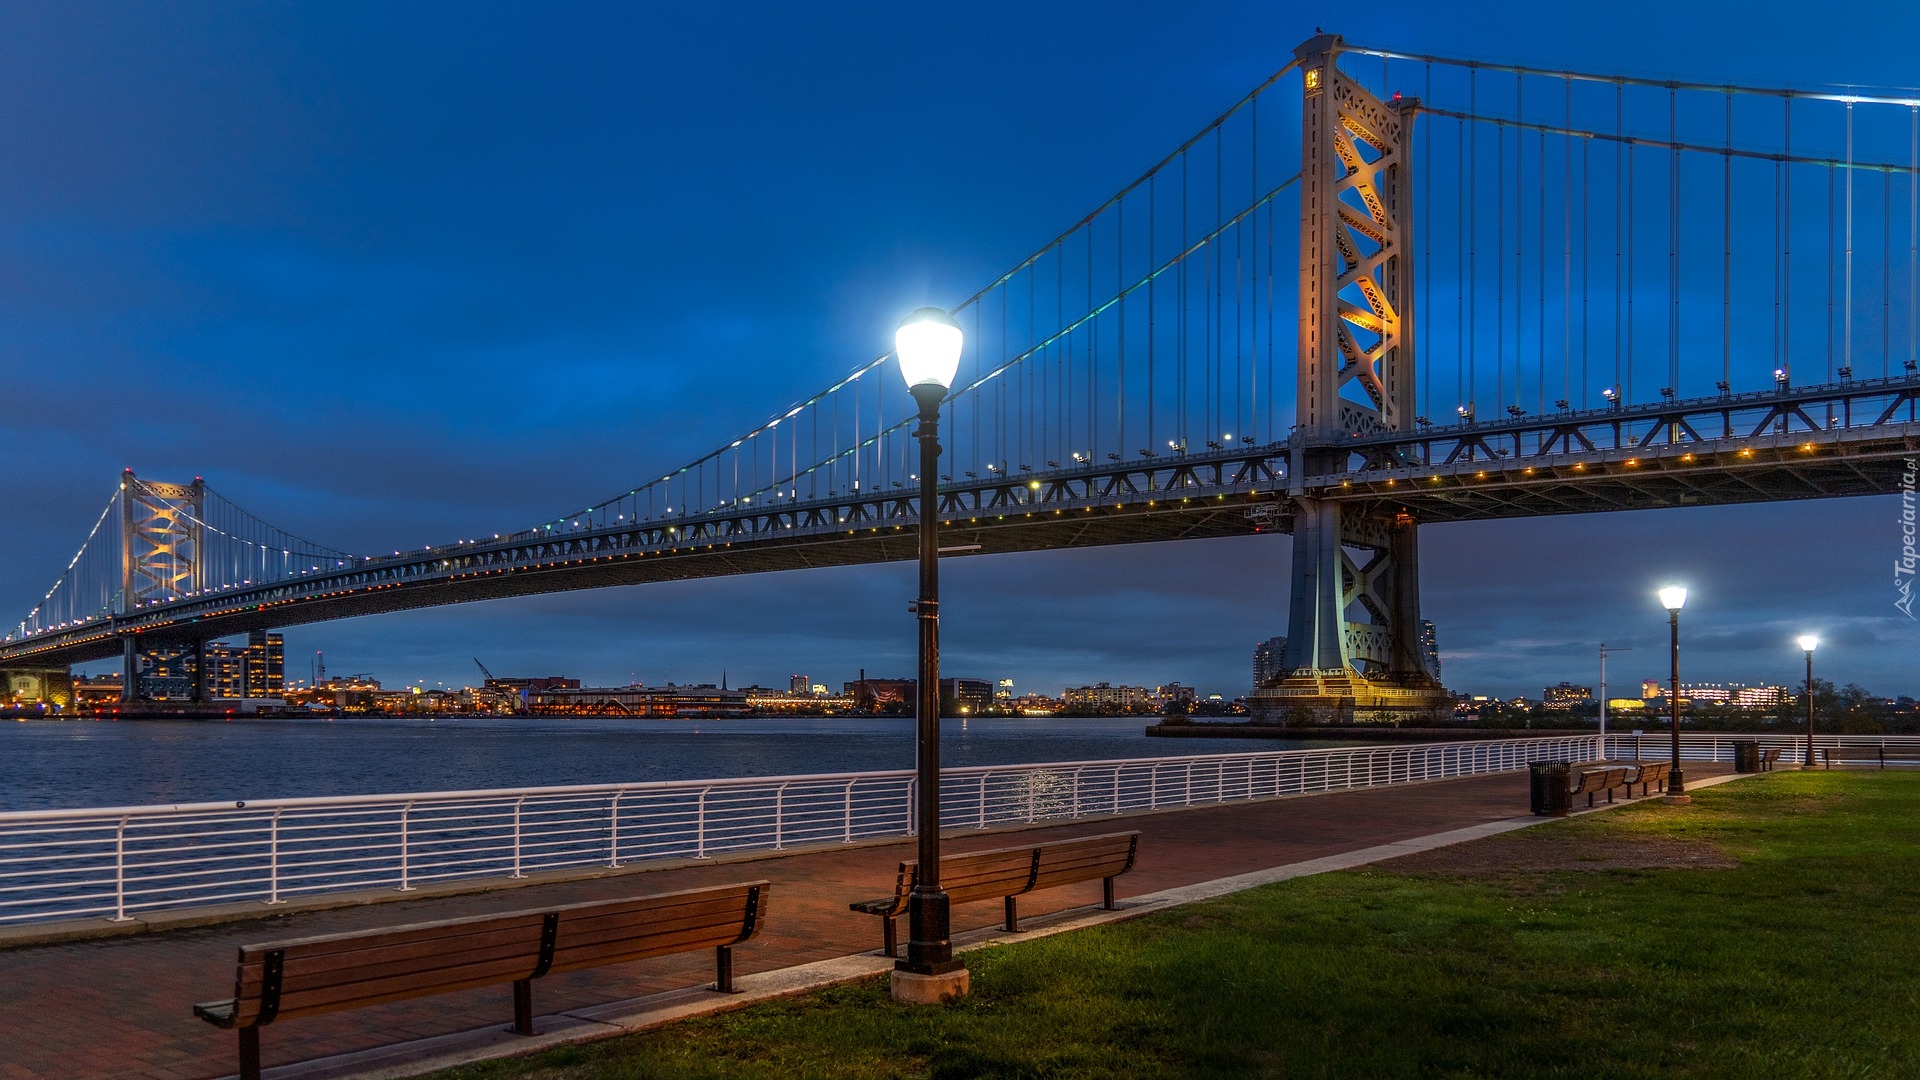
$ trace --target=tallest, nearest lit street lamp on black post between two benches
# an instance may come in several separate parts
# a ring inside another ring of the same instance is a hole
[[[960,323],[939,307],[922,307],[900,323],[893,350],[906,390],[920,405],[920,686],[914,709],[918,771],[920,869],[906,897],[906,959],[893,965],[893,997],[937,1003],[968,992],[966,967],[954,959],[947,892],[941,890],[941,550],[939,492],[941,402],[960,371]]]

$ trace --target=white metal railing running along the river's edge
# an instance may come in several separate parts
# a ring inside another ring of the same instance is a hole
[[[991,828],[1597,755],[1597,736],[1569,736],[948,769],[941,815]],[[0,813],[0,922],[897,838],[912,805],[899,771]]]

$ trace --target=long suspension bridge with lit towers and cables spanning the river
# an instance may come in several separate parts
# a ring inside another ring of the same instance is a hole
[[[1421,525],[1897,490],[1920,450],[1920,94],[1551,71],[1321,35],[952,309],[939,517],[981,553],[1290,532],[1256,715],[1444,703]],[[532,528],[353,553],[125,473],[0,667],[914,555],[860,363]]]

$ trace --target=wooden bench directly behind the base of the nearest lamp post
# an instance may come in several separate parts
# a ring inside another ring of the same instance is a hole
[[[1006,930],[1020,932],[1020,896],[1073,882],[1102,882],[1102,905],[1114,909],[1114,878],[1133,869],[1140,849],[1139,832],[1106,832],[1075,840],[1050,840],[993,851],[968,851],[941,857],[941,890],[948,903],[975,899],[1006,899]],[[918,863],[900,863],[893,894],[849,903],[851,911],[879,917],[881,951],[899,955],[895,919],[906,913],[906,897],[914,892]]]

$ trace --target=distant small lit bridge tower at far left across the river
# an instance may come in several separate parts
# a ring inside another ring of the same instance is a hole
[[[205,552],[202,521],[207,486],[157,484],[121,473],[121,592],[119,615],[150,600],[173,600],[200,590]],[[134,634],[121,638],[121,700],[142,701],[156,694],[171,700],[205,696],[205,642],[190,646],[142,646]]]

